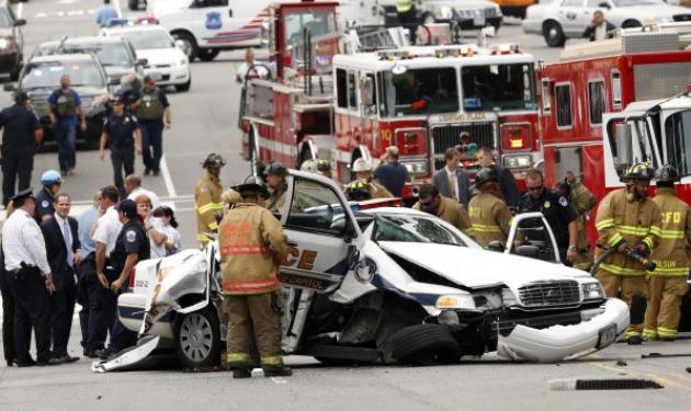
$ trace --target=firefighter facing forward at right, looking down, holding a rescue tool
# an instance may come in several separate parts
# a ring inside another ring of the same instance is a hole
[[[607,256],[596,272],[608,297],[621,297],[631,310],[631,326],[624,335],[628,344],[643,342],[643,317],[645,312],[646,270],[623,252],[633,249],[647,255],[659,241],[660,208],[648,198],[653,169],[647,162],[628,168],[622,176],[625,187],[609,193],[598,207],[596,229],[598,249],[615,248],[619,252]]]

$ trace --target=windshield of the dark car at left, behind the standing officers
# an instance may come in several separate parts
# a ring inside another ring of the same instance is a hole
[[[60,77],[68,75],[72,87],[90,85],[105,87],[99,67],[93,62],[30,62],[21,81],[22,89],[57,88]]]

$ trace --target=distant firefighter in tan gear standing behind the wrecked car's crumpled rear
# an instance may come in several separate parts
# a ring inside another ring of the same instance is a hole
[[[223,212],[223,202],[220,194],[223,186],[220,185],[220,169],[226,165],[226,160],[219,155],[212,152],[206,157],[202,167],[206,169],[204,176],[196,183],[194,187],[194,209],[196,212],[196,240],[200,248],[206,247],[212,240],[207,233],[216,232],[218,222],[216,221],[216,213]]]

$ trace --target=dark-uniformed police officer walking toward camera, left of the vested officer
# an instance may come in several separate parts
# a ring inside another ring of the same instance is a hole
[[[123,169],[125,175],[134,174],[135,147],[137,153],[141,153],[141,132],[137,117],[125,113],[122,98],[113,101],[113,113],[103,123],[99,153],[101,160],[105,158],[105,144],[109,140],[115,186],[120,190],[120,195],[126,197]]]

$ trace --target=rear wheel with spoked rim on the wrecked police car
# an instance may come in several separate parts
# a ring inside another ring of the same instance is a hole
[[[220,361],[220,327],[211,307],[175,321],[175,355],[185,367],[205,367]]]

